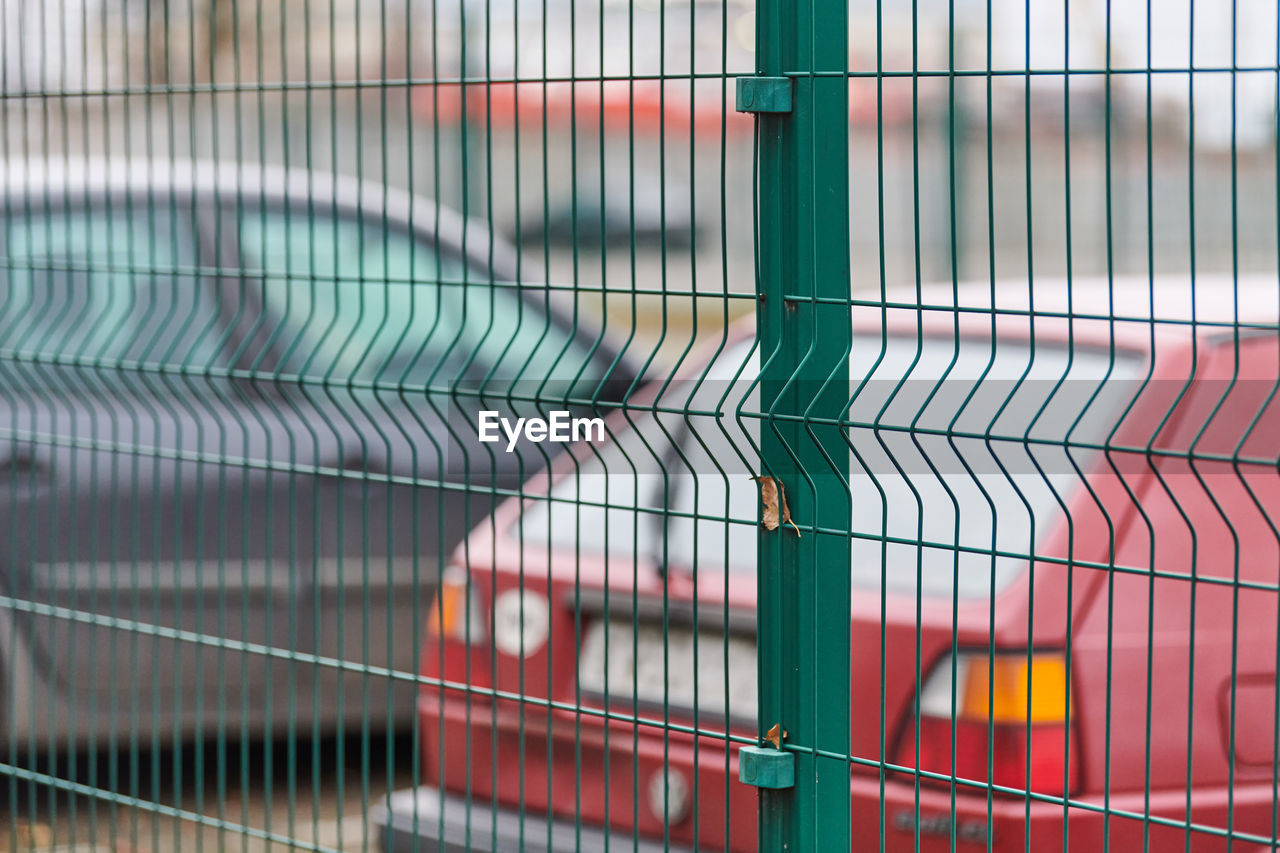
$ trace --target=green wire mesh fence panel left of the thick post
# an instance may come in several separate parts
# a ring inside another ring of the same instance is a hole
[[[754,620],[649,491],[751,338],[751,15],[0,3],[9,849],[754,836]]]

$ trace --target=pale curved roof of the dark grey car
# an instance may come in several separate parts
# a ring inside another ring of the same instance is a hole
[[[489,266],[502,280],[515,282],[520,269],[516,250],[485,223],[430,199],[344,174],[180,158],[14,158],[0,169],[0,193],[9,199],[74,201],[86,192],[319,202],[383,215],[433,240],[466,246],[472,261]]]

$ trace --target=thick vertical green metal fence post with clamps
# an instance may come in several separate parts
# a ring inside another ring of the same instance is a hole
[[[756,22],[762,452],[799,526],[760,534],[762,743],[777,724],[795,758],[794,786],[760,788],[760,849],[847,850],[849,13],[760,0]]]

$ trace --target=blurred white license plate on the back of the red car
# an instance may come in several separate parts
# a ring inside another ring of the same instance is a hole
[[[696,707],[699,715],[735,720],[755,719],[755,679],[754,639],[718,630],[695,635],[684,626],[664,633],[660,625],[623,619],[593,622],[577,658],[579,686],[611,704]]]

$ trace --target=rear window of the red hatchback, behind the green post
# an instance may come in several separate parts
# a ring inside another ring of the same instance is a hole
[[[1080,444],[1106,439],[1142,368],[1105,350],[980,337],[855,336],[854,353],[854,585],[914,592],[919,579],[925,596],[961,598],[1027,566],[996,552],[1034,553],[1089,470],[1094,451]],[[758,369],[749,345],[730,348],[694,393],[664,393],[658,409],[677,414],[632,415],[526,510],[525,540],[754,574]]]

